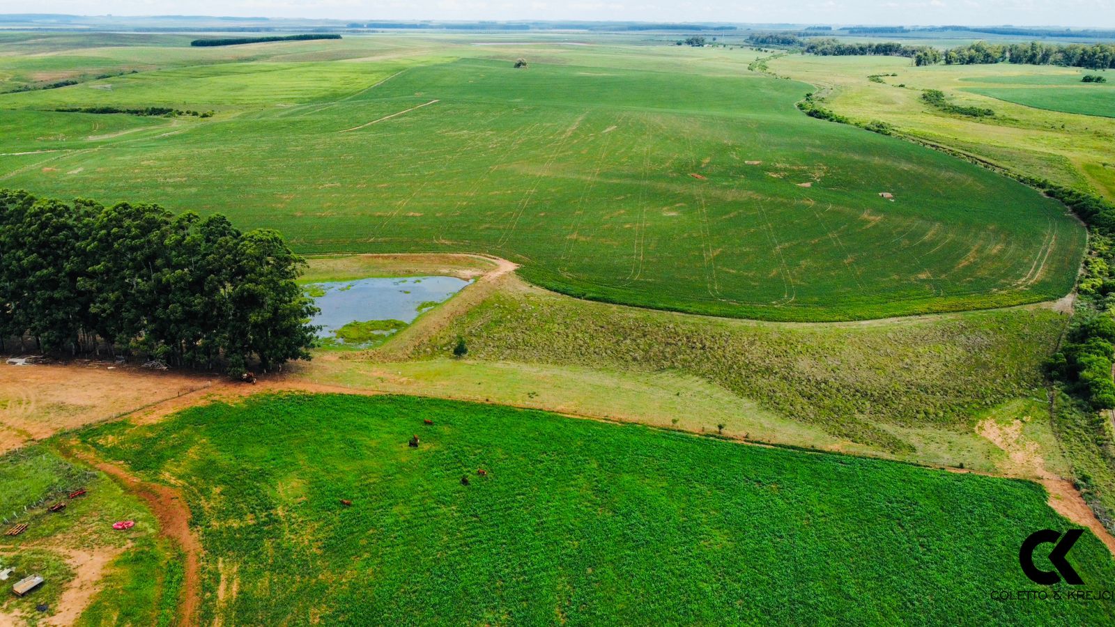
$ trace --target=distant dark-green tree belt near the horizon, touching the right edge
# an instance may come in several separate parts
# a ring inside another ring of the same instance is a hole
[[[944,52],[949,65],[998,64],[1058,65],[1088,69],[1115,68],[1112,44],[987,44],[977,41]]]

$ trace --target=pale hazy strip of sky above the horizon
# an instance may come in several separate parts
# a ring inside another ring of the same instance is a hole
[[[0,13],[1115,28],[1115,0],[0,0]]]

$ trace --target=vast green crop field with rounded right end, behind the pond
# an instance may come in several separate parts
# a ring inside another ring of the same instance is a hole
[[[1058,203],[809,118],[794,103],[813,88],[749,73],[743,50],[46,39],[57,76],[130,69],[0,94],[0,185],[223,212],[300,252],[489,253],[589,299],[846,320],[1057,298],[1083,250]],[[0,57],[9,87],[49,74],[28,52]],[[54,110],[153,106],[214,115]]]

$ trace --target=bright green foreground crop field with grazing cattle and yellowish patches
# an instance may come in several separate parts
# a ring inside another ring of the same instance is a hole
[[[1028,482],[391,396],[256,396],[83,440],[185,486],[202,624],[1115,619],[991,599],[1029,589],[1030,530],[1068,525]],[[1115,576],[1090,533],[1072,560]]]

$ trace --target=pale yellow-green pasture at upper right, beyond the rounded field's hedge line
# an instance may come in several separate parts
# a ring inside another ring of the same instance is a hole
[[[1014,64],[911,67],[909,59],[894,57],[791,55],[770,61],[770,69],[822,86],[826,106],[853,119],[886,122],[903,134],[1115,200],[1115,170],[1105,165],[1112,161],[1115,119],[1034,108],[972,91],[1083,86],[1079,80],[1085,73],[1076,68]],[[898,76],[878,84],[867,80],[873,74]],[[997,115],[973,119],[942,114],[921,100],[922,89],[941,89],[958,105],[991,108]]]

